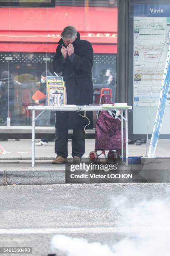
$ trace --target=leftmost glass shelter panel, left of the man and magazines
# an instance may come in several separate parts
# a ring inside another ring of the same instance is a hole
[[[47,8],[44,18],[47,16]],[[10,125],[30,125],[28,105],[36,104],[32,96],[39,87],[41,73],[46,63],[39,54],[42,43],[47,42],[47,24],[38,24],[41,9],[0,8],[0,79],[5,88],[1,92],[1,124],[6,125],[6,115]],[[36,26],[35,26],[36,24]],[[37,32],[38,31],[38,32]],[[46,55],[46,54],[45,54]]]

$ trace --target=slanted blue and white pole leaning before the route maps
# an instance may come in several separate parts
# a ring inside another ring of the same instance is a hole
[[[152,138],[150,141],[148,158],[154,158],[155,156],[155,151],[156,151],[156,147],[157,147],[158,139],[160,135],[160,129],[163,122],[163,116],[165,111],[165,104],[167,100],[169,85],[170,85],[170,45],[168,48],[168,54],[167,54],[167,59],[166,59],[166,64],[165,64],[165,69],[163,74],[163,82],[160,90],[159,105],[158,105],[157,115],[156,115],[155,123],[153,127]]]

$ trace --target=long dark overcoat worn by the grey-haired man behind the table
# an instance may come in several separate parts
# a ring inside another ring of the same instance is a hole
[[[92,65],[93,49],[89,41],[80,40],[77,33],[76,40],[72,43],[74,53],[64,59],[61,53],[61,45],[65,46],[62,39],[58,42],[56,54],[53,59],[54,72],[62,72],[67,92],[67,104],[89,105],[92,103],[93,84],[92,84]],[[55,128],[84,128],[88,123],[86,118],[80,116],[84,112],[59,112],[56,113]],[[92,126],[92,113],[87,112]],[[89,126],[88,126],[89,127]]]

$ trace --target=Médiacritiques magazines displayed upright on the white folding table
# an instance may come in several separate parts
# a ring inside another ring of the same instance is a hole
[[[63,77],[47,76],[47,105],[60,107],[66,104],[65,82]]]

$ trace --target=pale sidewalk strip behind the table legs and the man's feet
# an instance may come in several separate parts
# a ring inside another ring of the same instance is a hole
[[[35,140],[36,142],[38,140]],[[149,147],[148,142],[148,147]],[[5,149],[5,154],[0,154],[0,160],[29,160],[31,159],[32,141],[21,139],[15,141],[9,139],[8,141],[0,141],[0,145]],[[129,156],[145,156],[146,144],[140,146],[128,145]],[[95,149],[95,140],[87,139],[85,141],[85,155],[84,158],[88,158],[90,151]],[[0,148],[0,150],[2,150]],[[69,158],[71,157],[71,141],[68,142]],[[48,142],[47,146],[35,146],[35,158],[39,160],[54,159],[56,156],[54,151],[54,142]],[[156,156],[158,157],[170,157],[170,140],[159,140]]]

